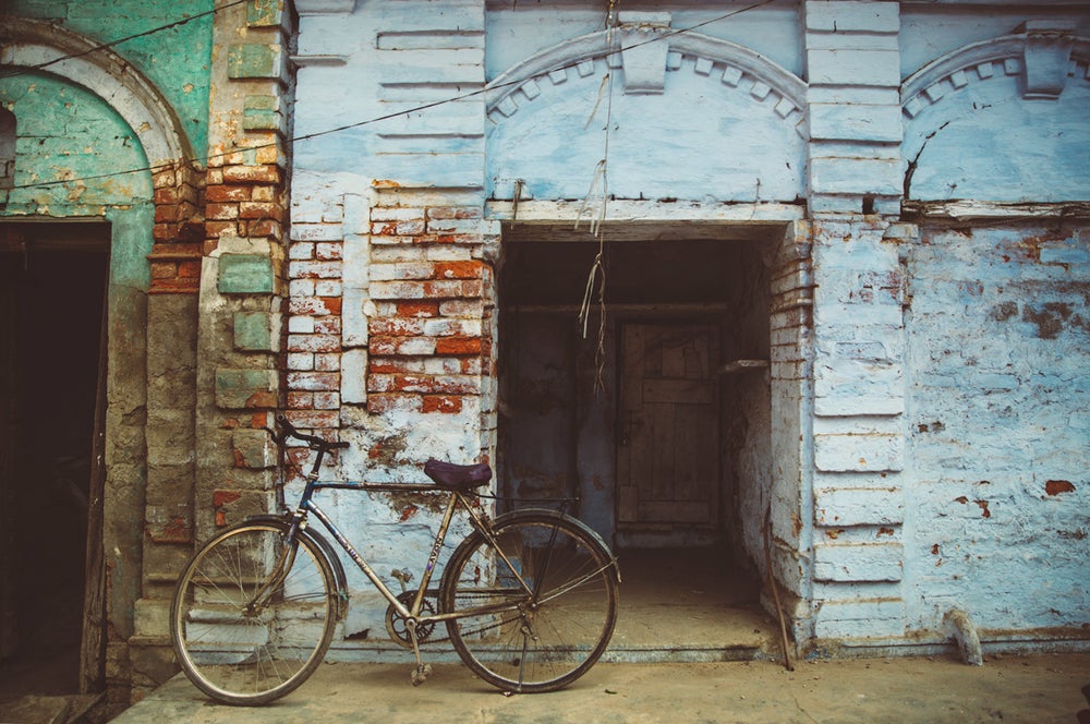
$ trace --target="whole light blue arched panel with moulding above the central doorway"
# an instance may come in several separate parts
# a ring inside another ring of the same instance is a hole
[[[647,41],[641,29],[567,40],[488,84],[489,195],[511,197],[522,180],[533,198],[582,197],[601,158],[595,129],[607,72],[617,197],[792,202],[804,194],[806,83],[732,43],[665,27]],[[652,167],[655,178],[645,172]]]

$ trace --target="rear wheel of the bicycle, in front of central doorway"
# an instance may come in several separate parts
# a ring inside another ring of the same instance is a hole
[[[549,511],[514,514],[455,551],[440,600],[465,665],[514,692],[560,689],[605,651],[617,622],[617,575],[604,545]]]

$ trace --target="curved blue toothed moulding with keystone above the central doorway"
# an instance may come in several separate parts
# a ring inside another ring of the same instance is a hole
[[[498,112],[505,118],[512,116],[519,110],[517,96],[522,95],[530,100],[535,98],[540,95],[541,80],[559,85],[567,81],[571,72],[579,76],[591,75],[594,72],[594,61],[601,59],[605,59],[610,68],[626,68],[626,64],[632,64],[632,59],[637,58],[630,50],[642,50],[653,43],[662,43],[665,51],[659,57],[665,63],[664,72],[680,70],[682,58],[693,58],[695,73],[706,76],[717,73],[725,87],[748,89],[754,98],[772,102],[777,114],[785,120],[792,114],[797,116],[794,120],[802,133],[807,84],[794,73],[761,53],[728,40],[699,33],[670,35],[668,27],[659,26],[655,32],[662,39],[653,41],[646,37],[645,27],[633,25],[635,24],[621,25],[617,33],[598,31],[566,40],[511,67],[487,85],[485,106],[488,114]],[[627,37],[633,38],[630,45],[625,43]],[[656,72],[655,69],[644,67],[646,61],[643,58],[639,58],[639,61],[641,76]],[[626,92],[647,93],[643,87]]]

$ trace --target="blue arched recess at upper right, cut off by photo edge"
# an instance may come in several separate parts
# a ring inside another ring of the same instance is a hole
[[[1090,38],[1044,22],[1019,31],[904,82],[906,200],[1090,198]]]

